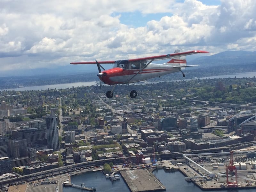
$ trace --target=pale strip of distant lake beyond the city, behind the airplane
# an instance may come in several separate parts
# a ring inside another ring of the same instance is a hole
[[[254,77],[256,76],[256,71],[247,72],[247,73],[238,73],[234,75],[220,75],[220,76],[210,76],[210,77],[200,77],[199,79],[219,79],[219,78],[244,78],[244,77]],[[184,79],[189,80],[189,79]],[[172,81],[175,81],[172,80]],[[65,84],[53,84],[53,85],[39,85],[39,86],[30,86],[30,87],[20,87],[20,88],[11,88],[11,89],[4,89],[7,91],[31,91],[31,90],[46,90],[46,89],[64,89],[64,88],[72,88],[74,87],[81,87],[81,86],[92,86],[98,84],[100,81],[89,81],[89,82],[76,82],[76,83],[65,83]],[[4,91],[0,90],[0,91]]]

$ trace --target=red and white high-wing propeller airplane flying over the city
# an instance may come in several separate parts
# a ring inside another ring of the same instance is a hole
[[[72,62],[70,64],[97,64],[99,73],[98,77],[101,81],[108,85],[114,85],[111,91],[106,93],[108,98],[113,97],[113,90],[116,84],[128,84],[135,83],[139,81],[144,81],[154,77],[160,77],[166,74],[175,73],[180,71],[185,77],[185,74],[182,72],[182,69],[185,67],[193,67],[198,65],[187,65],[186,55],[192,55],[196,53],[209,53],[206,51],[188,51],[188,52],[179,52],[176,50],[172,54],[167,55],[158,55],[152,57],[144,57],[138,59],[128,59],[128,60],[116,60],[116,61],[92,61],[92,62]],[[171,59],[164,64],[155,64],[152,63],[155,60],[165,60]],[[114,64],[114,67],[108,70],[105,70],[101,64]],[[101,71],[102,68],[104,71]],[[137,96],[137,92],[132,90],[130,92],[131,98]]]

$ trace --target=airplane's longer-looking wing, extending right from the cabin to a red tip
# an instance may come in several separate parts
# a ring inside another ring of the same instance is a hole
[[[186,56],[186,55],[192,55],[192,54],[196,54],[196,53],[209,53],[207,51],[188,51],[188,52],[177,52],[177,53],[171,53],[171,54],[167,54],[167,55],[158,55],[158,56],[152,56],[152,57],[143,57],[143,58],[138,58],[138,59],[129,59],[128,61],[132,62],[132,61],[147,61],[147,60],[165,60],[165,59],[171,59],[174,57],[178,57],[178,56]]]

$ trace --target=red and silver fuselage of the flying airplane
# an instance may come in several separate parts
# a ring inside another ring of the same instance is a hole
[[[150,78],[163,76],[166,74],[180,71],[180,68],[174,68],[173,66],[165,64],[150,63],[147,68],[140,71],[140,68],[122,68],[114,67],[105,71],[102,71],[102,76],[99,76],[105,84],[129,84],[139,81],[144,81]],[[137,75],[136,75],[137,74]]]

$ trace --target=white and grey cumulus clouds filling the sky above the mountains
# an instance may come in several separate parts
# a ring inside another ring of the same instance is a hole
[[[145,57],[177,47],[255,51],[255,10],[254,0],[1,1],[0,62],[9,70]],[[143,15],[144,24],[125,25],[123,13]],[[147,20],[160,13],[165,16]]]

